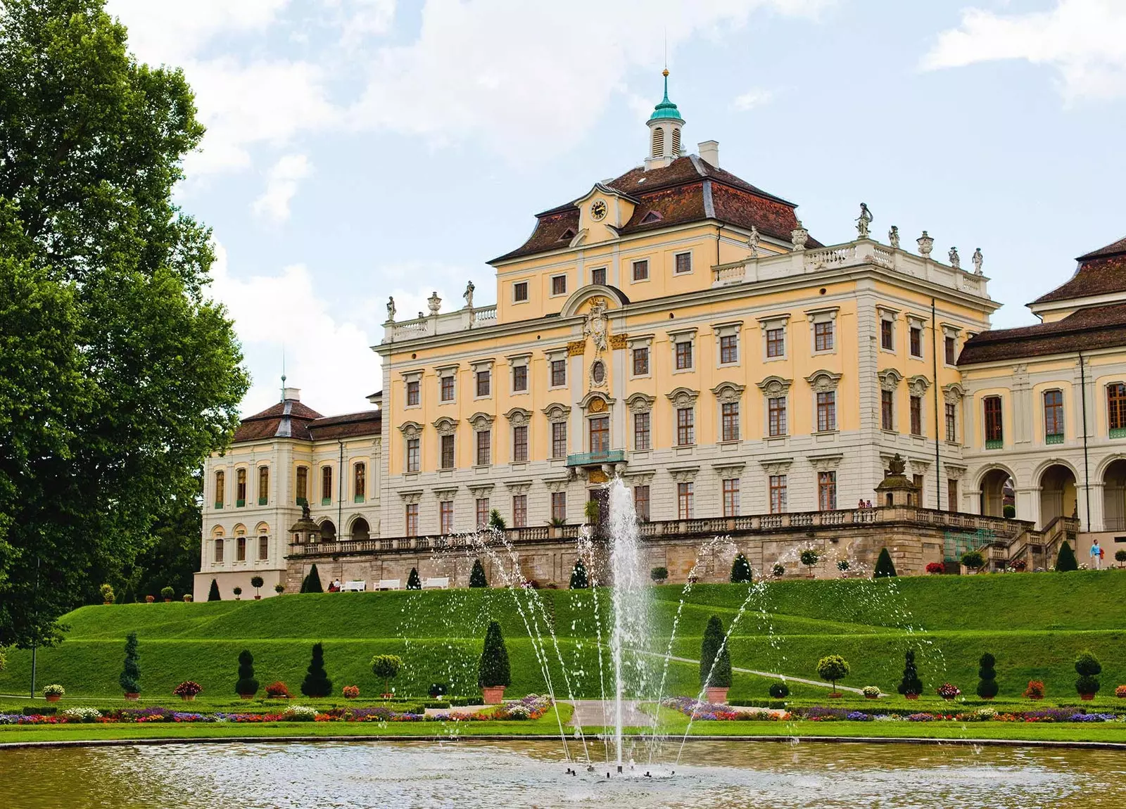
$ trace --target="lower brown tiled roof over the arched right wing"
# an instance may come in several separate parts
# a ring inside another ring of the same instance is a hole
[[[982,332],[966,341],[958,357],[958,365],[1075,353],[1118,345],[1126,345],[1126,303],[1090,306],[1054,323]]]

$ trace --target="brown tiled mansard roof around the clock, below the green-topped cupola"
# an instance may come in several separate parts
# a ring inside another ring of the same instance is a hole
[[[622,235],[714,218],[748,230],[754,225],[763,235],[788,242],[790,231],[797,226],[793,203],[695,155],[678,158],[669,165],[649,171],[637,167],[606,185],[637,201],[633,216],[618,231]],[[659,218],[645,222],[650,213]],[[493,261],[565,248],[570,240],[561,236],[579,227],[574,201],[537,214],[536,218],[536,228],[528,241]],[[821,246],[821,243],[811,239],[808,245]]]

